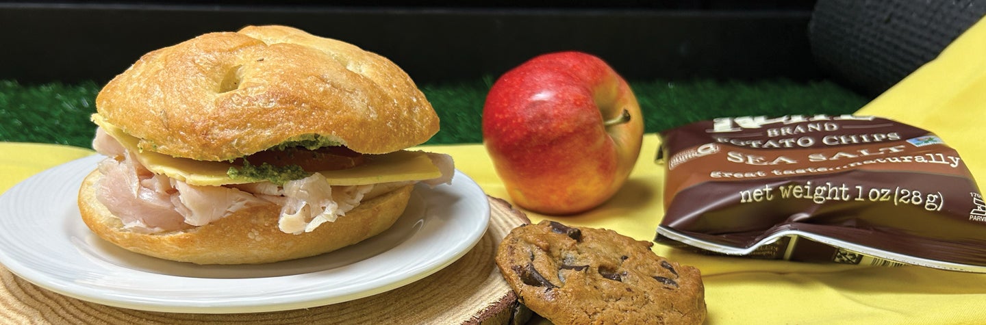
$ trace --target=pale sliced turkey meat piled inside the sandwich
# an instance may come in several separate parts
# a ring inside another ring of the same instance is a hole
[[[226,186],[196,186],[155,174],[144,167],[136,153],[126,150],[102,128],[93,148],[108,158],[100,162],[103,177],[96,184],[97,198],[126,228],[160,232],[204,226],[237,211],[262,204],[281,206],[278,227],[284,232],[312,231],[334,222],[363,200],[383,195],[415,181],[331,186],[321,173],[285,182],[255,182]],[[428,153],[442,176],[424,180],[429,186],[450,183],[452,158]]]

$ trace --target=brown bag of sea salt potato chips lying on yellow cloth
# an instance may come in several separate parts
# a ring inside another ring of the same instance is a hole
[[[955,150],[874,116],[725,117],[661,134],[655,241],[715,254],[986,272],[986,203]]]

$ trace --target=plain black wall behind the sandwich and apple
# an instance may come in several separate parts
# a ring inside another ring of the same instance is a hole
[[[739,3],[739,4],[738,4]],[[814,1],[0,2],[0,79],[99,83],[204,32],[282,24],[387,56],[419,83],[499,75],[584,50],[628,79],[823,78]]]

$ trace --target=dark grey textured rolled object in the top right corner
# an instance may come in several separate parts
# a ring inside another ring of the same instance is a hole
[[[811,51],[835,78],[877,96],[935,59],[984,14],[986,0],[818,0]]]

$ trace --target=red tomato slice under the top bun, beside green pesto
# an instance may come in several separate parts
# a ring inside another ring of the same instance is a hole
[[[283,167],[297,164],[308,171],[336,170],[352,168],[363,163],[363,154],[349,150],[346,147],[322,147],[308,150],[304,147],[285,148],[284,150],[265,150],[247,156],[246,162],[259,165],[264,162]],[[243,164],[244,159],[233,163]]]

